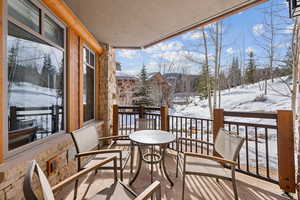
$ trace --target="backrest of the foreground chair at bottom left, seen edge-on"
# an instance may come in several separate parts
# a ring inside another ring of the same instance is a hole
[[[26,200],[37,200],[32,188],[33,175],[36,174],[37,180],[40,182],[44,200],[54,200],[54,194],[42,169],[35,160],[31,161],[27,173],[24,178],[23,191]]]

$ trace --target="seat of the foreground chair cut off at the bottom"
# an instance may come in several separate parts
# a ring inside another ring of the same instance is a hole
[[[110,187],[98,192],[91,200],[132,200],[135,197],[135,194],[117,181]]]

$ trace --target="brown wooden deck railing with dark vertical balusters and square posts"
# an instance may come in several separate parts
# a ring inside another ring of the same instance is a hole
[[[179,151],[214,154],[213,142],[221,127],[245,138],[238,158],[241,173],[276,183],[285,192],[295,192],[293,119],[291,111],[276,113],[232,112],[215,109],[213,120],[168,115],[167,107],[114,106],[114,134],[128,135],[136,129],[136,119],[155,119],[156,129],[168,130],[181,141]],[[250,123],[254,118],[257,123]],[[115,123],[117,121],[117,123]],[[176,143],[169,148],[176,150]],[[215,154],[217,155],[217,154]]]

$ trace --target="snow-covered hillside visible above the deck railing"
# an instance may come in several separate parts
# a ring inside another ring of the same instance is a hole
[[[291,109],[291,93],[287,82],[291,87],[288,77],[268,80],[268,94],[264,100],[260,98],[264,94],[264,81],[259,83],[238,86],[221,92],[221,108],[228,111],[249,112],[275,112],[278,109]],[[191,98],[187,105],[175,105],[171,114],[189,117],[210,118],[208,101],[199,97]],[[249,122],[249,119],[247,119]],[[257,119],[254,121],[258,123]]]

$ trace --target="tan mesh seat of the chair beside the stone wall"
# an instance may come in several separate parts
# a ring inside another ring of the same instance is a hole
[[[130,153],[128,151],[122,151],[122,166],[120,166],[120,154],[119,153],[103,153],[103,154],[97,154],[96,156],[94,156],[92,159],[89,160],[89,162],[87,162],[83,168],[89,168],[94,166],[95,164],[99,163],[100,160],[104,160],[108,157],[111,156],[117,156],[118,160],[117,160],[117,167],[123,167],[125,165],[125,162],[128,160],[128,157],[130,155]],[[105,169],[105,168],[113,168],[114,163],[113,162],[108,162],[105,165],[103,165],[100,169]]]

